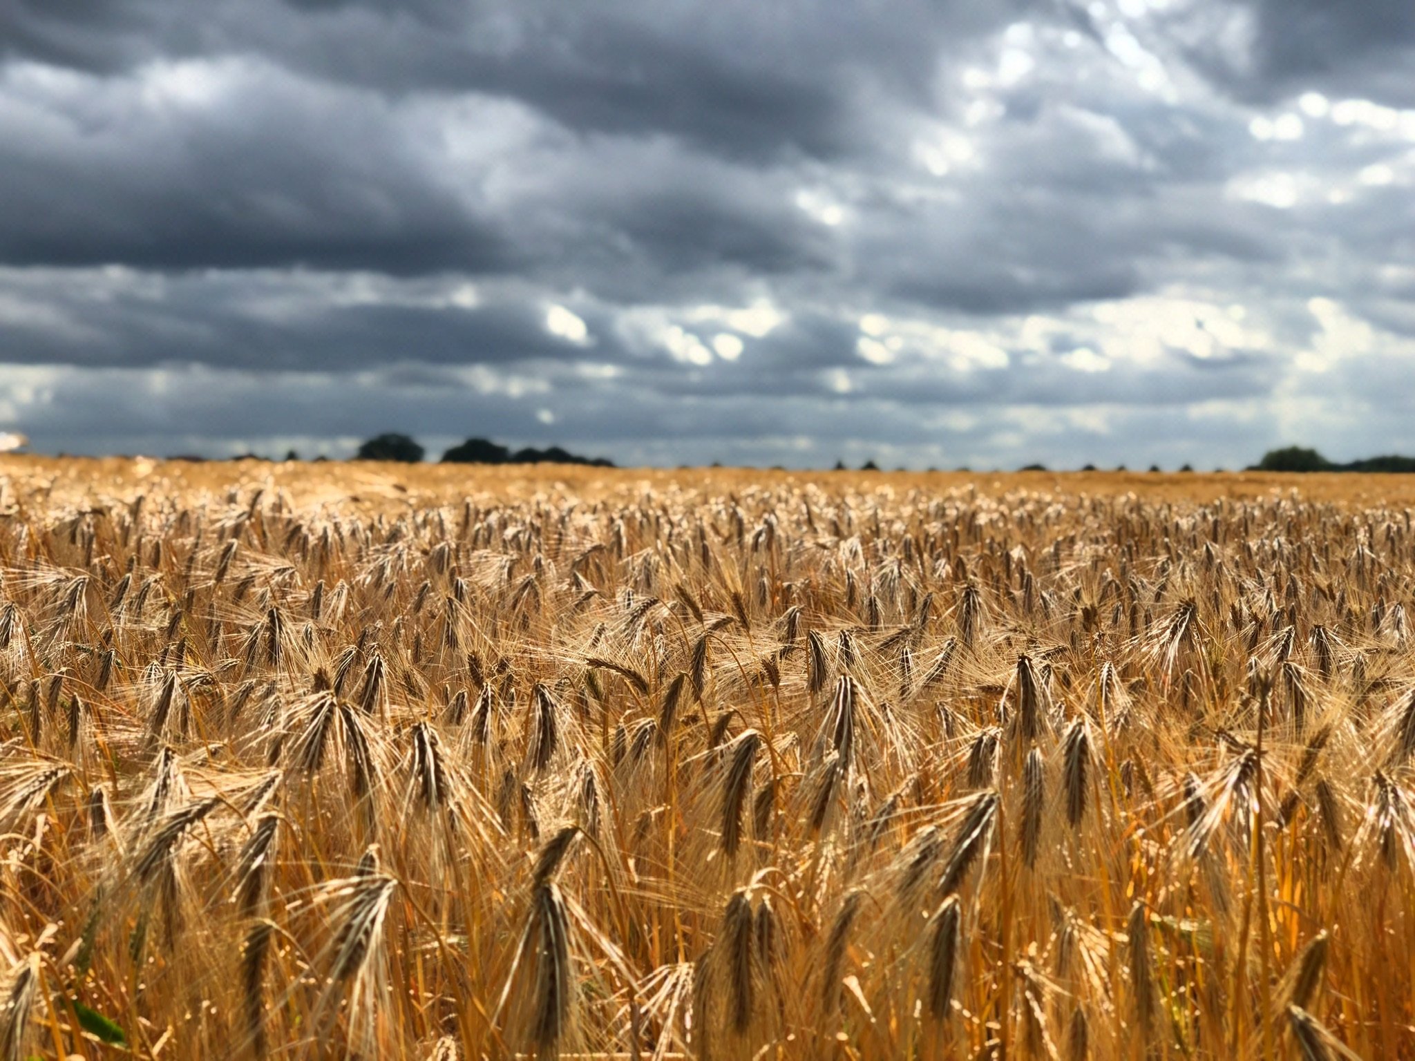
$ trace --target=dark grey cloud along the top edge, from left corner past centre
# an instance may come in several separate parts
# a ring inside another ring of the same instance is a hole
[[[941,48],[1030,6],[10,0],[0,35],[11,54],[95,72],[157,57],[258,52],[376,91],[511,96],[574,129],[666,132],[751,157],[831,156],[857,147],[852,79],[923,99]]]

